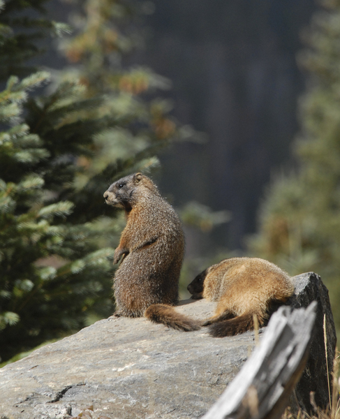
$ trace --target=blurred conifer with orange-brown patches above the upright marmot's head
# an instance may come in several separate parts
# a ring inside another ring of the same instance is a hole
[[[140,20],[148,13],[147,2],[87,0],[74,18],[77,31],[62,49],[72,73],[87,85],[89,96],[105,94],[100,117],[114,117],[116,126],[95,138],[96,159],[84,160],[87,173],[96,174],[116,162],[114,179],[133,170],[158,166],[155,154],[174,140],[197,135],[170,115],[172,105],[157,93],[170,81],[150,68],[129,65],[141,44]],[[131,155],[134,159],[131,160]],[[85,182],[86,179],[83,179]]]

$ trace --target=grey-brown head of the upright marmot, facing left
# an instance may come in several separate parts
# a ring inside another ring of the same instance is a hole
[[[108,205],[124,208],[124,210],[128,211],[138,203],[143,194],[150,192],[159,194],[157,186],[149,177],[142,175],[142,173],[135,173],[114,182],[105,191],[104,198]]]

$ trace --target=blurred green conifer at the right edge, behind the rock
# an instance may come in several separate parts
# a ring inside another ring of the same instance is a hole
[[[300,106],[302,129],[295,141],[299,170],[277,179],[260,212],[251,250],[290,274],[314,270],[340,300],[340,3],[323,2],[304,38],[300,64],[309,87]],[[334,311],[337,328],[340,314]]]

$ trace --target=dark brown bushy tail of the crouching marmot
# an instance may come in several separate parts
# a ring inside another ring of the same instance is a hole
[[[263,316],[258,316],[258,324],[259,326],[263,325]],[[242,314],[242,316],[213,323],[209,326],[209,334],[213,337],[234,336],[244,333],[247,330],[253,330],[253,328],[253,313]]]

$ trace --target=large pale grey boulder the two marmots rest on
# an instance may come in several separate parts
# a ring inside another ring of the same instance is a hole
[[[329,358],[336,338],[327,289],[319,277],[302,274],[294,281],[290,304],[307,307],[318,300],[319,306],[311,360],[297,388],[299,402],[308,409],[309,390],[316,390],[320,405],[328,399],[324,312]],[[200,319],[213,309],[214,303],[205,300],[186,300],[178,307]],[[93,404],[96,418],[200,418],[253,346],[253,332],[216,339],[205,329],[184,333],[145,318],[110,317],[0,369],[0,417],[66,419]]]

